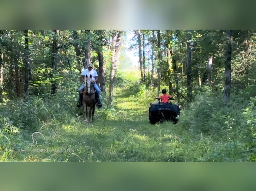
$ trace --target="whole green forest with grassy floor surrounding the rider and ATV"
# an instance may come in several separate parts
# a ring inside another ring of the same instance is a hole
[[[255,161],[255,50],[256,30],[0,30],[0,161]],[[149,123],[162,89],[177,124]]]

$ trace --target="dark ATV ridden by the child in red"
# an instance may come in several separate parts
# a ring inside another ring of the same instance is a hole
[[[173,100],[173,98],[169,98],[168,103],[160,102],[160,98],[157,97],[155,97],[155,99],[158,99],[158,101],[153,104],[150,103],[150,107],[148,109],[148,119],[150,123],[155,124],[159,121],[172,121],[176,124],[180,115],[180,105],[172,104],[170,100]]]

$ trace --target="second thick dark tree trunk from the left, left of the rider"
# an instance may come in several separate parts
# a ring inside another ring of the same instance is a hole
[[[51,69],[52,69],[52,74],[51,74],[51,94],[55,94],[56,93],[56,82],[55,80],[53,79],[54,78],[54,73],[57,69],[57,53],[58,53],[58,50],[57,50],[57,38],[56,38],[56,35],[57,35],[57,30],[52,30],[55,34],[53,36],[53,43],[52,43],[52,47],[51,47],[51,53],[52,53],[52,64],[51,64]]]

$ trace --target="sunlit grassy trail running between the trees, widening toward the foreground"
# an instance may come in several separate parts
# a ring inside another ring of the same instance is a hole
[[[184,161],[184,142],[191,141],[179,125],[171,122],[151,125],[148,106],[136,98],[122,97],[116,88],[115,107],[97,109],[95,120],[84,123],[74,116],[72,123],[46,125],[31,146],[32,132],[22,131],[10,139],[9,152],[3,161]],[[54,123],[54,122],[53,122]],[[55,124],[58,124],[57,122]],[[56,134],[51,131],[56,131]],[[56,135],[56,136],[54,136]],[[54,136],[54,137],[53,137]],[[190,150],[193,150],[191,145]],[[194,148],[197,149],[197,148]],[[13,150],[13,151],[10,151]],[[22,151],[23,150],[23,151]],[[192,154],[193,156],[193,154]]]

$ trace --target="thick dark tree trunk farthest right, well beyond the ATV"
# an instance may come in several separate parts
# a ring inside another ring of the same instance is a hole
[[[224,101],[229,103],[230,90],[231,90],[231,54],[232,54],[232,30],[227,30],[227,46],[226,46],[226,59],[225,59],[225,88],[224,88]]]

